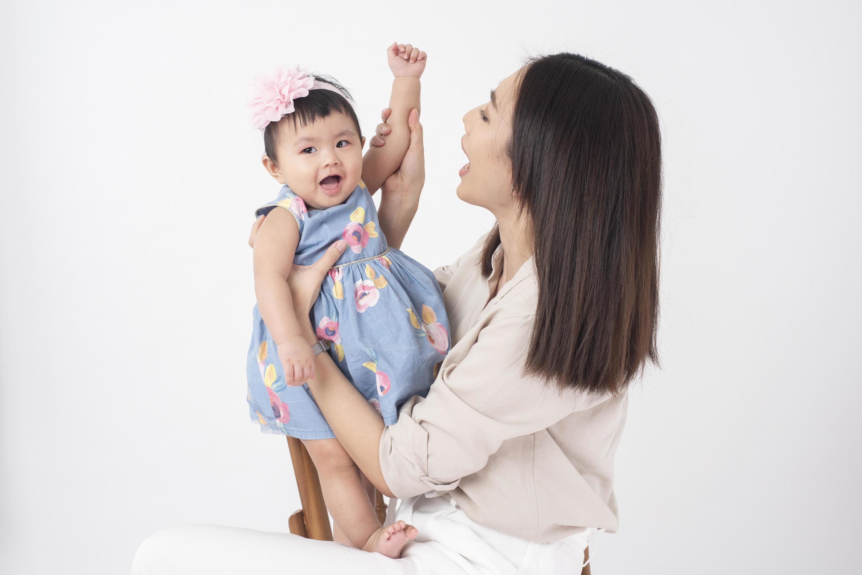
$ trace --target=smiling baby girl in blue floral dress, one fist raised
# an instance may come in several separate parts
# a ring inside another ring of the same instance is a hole
[[[408,117],[411,109],[418,113],[426,61],[409,45],[393,44],[387,53],[395,75],[392,139],[365,158],[352,98],[334,79],[284,67],[249,87],[252,122],[263,130],[263,165],[283,185],[255,213],[266,217],[254,241],[247,401],[261,431],[303,440],[334,523],[353,546],[397,558],[408,541],[403,522],[381,526],[359,468],[303,383],[314,375],[315,354],[328,351],[390,425],[408,397],[425,397],[449,350],[440,285],[428,268],[387,245],[372,201],[409,146]],[[291,264],[314,263],[340,239],[349,249],[321,285],[311,312],[321,341],[309,347],[286,278]]]

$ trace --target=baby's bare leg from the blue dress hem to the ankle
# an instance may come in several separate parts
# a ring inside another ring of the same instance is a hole
[[[365,491],[359,467],[337,439],[303,440],[303,443],[315,462],[323,499],[332,515],[335,530],[346,539],[340,542],[349,542],[361,549],[380,528],[380,522]]]

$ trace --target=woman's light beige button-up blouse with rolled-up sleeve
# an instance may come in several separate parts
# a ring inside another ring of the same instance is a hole
[[[473,521],[528,541],[617,528],[614,455],[626,395],[560,395],[521,375],[538,291],[533,258],[488,301],[476,261],[485,240],[434,276],[452,348],[427,397],[410,397],[380,437],[380,466],[404,499],[449,492]],[[565,321],[562,318],[560,321]]]

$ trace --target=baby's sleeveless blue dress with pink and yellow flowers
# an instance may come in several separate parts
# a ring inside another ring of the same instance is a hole
[[[255,217],[278,206],[299,224],[295,264],[308,266],[335,241],[347,248],[330,268],[310,313],[317,336],[359,392],[391,425],[411,396],[425,397],[449,351],[449,322],[434,272],[386,245],[378,214],[360,180],[344,203],[306,209],[287,184]],[[287,386],[276,345],[257,304],[247,359],[247,402],[265,433],[334,437],[308,384]]]

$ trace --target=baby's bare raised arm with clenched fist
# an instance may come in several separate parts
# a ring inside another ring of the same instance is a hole
[[[407,153],[410,144],[407,118],[411,109],[420,111],[419,78],[425,71],[427,59],[426,54],[418,48],[395,42],[386,48],[386,55],[389,68],[395,75],[389,100],[392,112],[386,121],[390,133],[386,134],[384,147],[370,147],[362,160],[362,181],[372,194],[401,166],[401,160]]]

